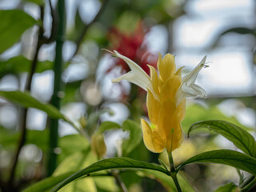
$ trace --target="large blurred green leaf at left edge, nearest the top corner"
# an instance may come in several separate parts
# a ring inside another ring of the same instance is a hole
[[[0,54],[13,46],[36,20],[22,10],[0,10]]]

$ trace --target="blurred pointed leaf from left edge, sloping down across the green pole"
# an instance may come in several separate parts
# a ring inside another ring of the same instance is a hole
[[[66,120],[65,116],[59,112],[57,108],[50,104],[39,102],[33,98],[28,92],[14,91],[0,91],[0,96],[6,98],[10,102],[15,102],[26,108],[32,107],[38,110],[46,112],[50,118],[62,118]]]

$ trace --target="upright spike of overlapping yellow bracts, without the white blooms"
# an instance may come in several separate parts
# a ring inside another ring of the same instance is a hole
[[[150,122],[142,122],[143,139],[146,147],[155,153],[166,148],[169,152],[175,150],[182,142],[181,121],[185,116],[186,100],[176,106],[176,93],[181,86],[181,70],[176,71],[174,56],[166,54],[158,57],[158,70],[150,67],[151,83],[159,101],[148,90],[146,106]],[[154,128],[153,128],[154,127]]]

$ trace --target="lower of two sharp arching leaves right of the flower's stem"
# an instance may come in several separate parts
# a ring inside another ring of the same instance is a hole
[[[256,175],[256,158],[250,157],[248,154],[242,154],[234,150],[211,150],[202,154],[197,154],[187,159],[178,166],[180,170],[183,166],[195,162],[211,162],[220,163],[228,166],[234,166],[239,170],[245,170],[250,174]]]

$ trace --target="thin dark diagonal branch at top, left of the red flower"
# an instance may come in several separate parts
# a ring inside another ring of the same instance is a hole
[[[104,0],[104,1],[102,2],[102,6],[101,6],[100,10],[98,10],[98,14],[96,14],[96,16],[94,17],[94,19],[93,19],[90,23],[88,23],[86,26],[84,26],[84,28],[83,28],[83,30],[82,30],[82,33],[78,36],[78,39],[76,40],[77,48],[76,48],[76,50],[74,51],[74,54],[73,54],[73,56],[72,56],[71,58],[74,58],[74,56],[78,53],[78,50],[79,50],[79,48],[80,48],[80,46],[81,46],[81,44],[82,44],[82,39],[83,39],[84,36],[86,35],[87,30],[90,28],[90,26],[91,26],[94,22],[96,22],[96,21],[98,20],[98,18],[100,18],[100,16],[102,15],[103,10],[105,10],[105,8],[106,8],[106,4],[107,4],[107,0]]]

